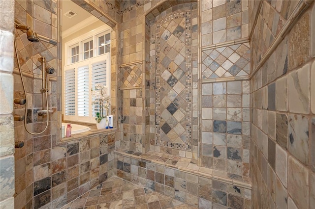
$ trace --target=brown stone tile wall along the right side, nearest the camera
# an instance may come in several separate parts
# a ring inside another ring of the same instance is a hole
[[[280,33],[297,2],[263,2],[251,41],[253,67]],[[314,208],[315,59],[310,53],[315,42],[311,36],[314,15],[313,1],[251,79],[255,209]],[[271,27],[274,23],[280,25]]]

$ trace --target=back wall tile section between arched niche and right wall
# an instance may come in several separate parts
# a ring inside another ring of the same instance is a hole
[[[201,165],[229,178],[250,176],[248,3],[201,1]]]

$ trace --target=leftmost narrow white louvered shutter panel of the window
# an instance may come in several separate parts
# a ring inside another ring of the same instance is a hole
[[[75,69],[64,71],[64,114],[75,115]]]

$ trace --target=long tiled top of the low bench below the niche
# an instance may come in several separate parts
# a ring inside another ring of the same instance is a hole
[[[241,186],[247,189],[252,189],[251,178],[242,177],[235,174],[229,174],[224,171],[201,167],[190,163],[191,159],[185,157],[178,157],[149,151],[146,154],[134,153],[128,150],[116,150],[115,154],[148,161],[154,164],[163,165],[165,167],[178,169],[180,171],[193,174],[196,176],[217,180],[222,183],[228,183],[235,186]]]

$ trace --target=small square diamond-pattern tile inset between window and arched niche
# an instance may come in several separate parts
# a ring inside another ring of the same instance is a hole
[[[121,67],[122,87],[140,86],[142,84],[142,64]]]

